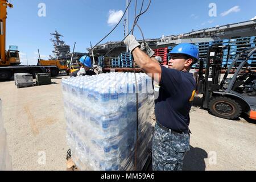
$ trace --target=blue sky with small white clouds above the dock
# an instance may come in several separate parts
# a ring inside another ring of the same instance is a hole
[[[142,0],[138,0],[137,10]],[[148,0],[145,0],[146,9]],[[55,30],[64,35],[63,40],[76,52],[87,52],[86,48],[96,44],[112,28],[108,23],[110,13],[125,11],[126,0],[11,0],[14,9],[8,9],[6,48],[16,45],[20,51],[22,64],[34,65],[38,58],[37,49],[43,59],[52,54],[53,46],[49,40]],[[46,16],[38,16],[39,3],[46,5]],[[215,3],[217,16],[209,16],[209,4]],[[135,0],[132,1],[130,27],[134,20]],[[145,38],[160,38],[215,27],[229,23],[243,22],[256,17],[255,0],[152,0],[150,9],[139,19],[139,26]],[[122,15],[122,14],[121,14]],[[118,15],[117,15],[118,17]],[[116,20],[115,16],[111,20]],[[126,16],[125,16],[126,17]],[[141,39],[135,30],[134,35]],[[123,39],[123,21],[102,43]]]

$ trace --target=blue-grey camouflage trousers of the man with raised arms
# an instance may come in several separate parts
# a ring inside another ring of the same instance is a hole
[[[153,171],[181,171],[189,151],[189,134],[171,134],[156,123],[152,143]]]

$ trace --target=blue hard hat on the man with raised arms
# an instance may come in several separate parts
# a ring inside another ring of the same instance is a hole
[[[193,57],[196,61],[199,60],[199,50],[193,44],[189,43],[181,43],[174,47],[171,51],[171,55],[175,53],[180,53],[183,55],[187,55],[189,57]]]

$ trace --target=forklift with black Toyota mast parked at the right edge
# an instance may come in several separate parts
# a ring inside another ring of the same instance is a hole
[[[197,92],[203,93],[202,107],[210,114],[225,119],[236,119],[241,113],[246,113],[249,118],[256,119],[255,74],[247,69],[247,61],[256,52],[256,47],[245,49],[237,55],[220,81],[224,48],[228,49],[229,55],[229,48],[226,46],[209,47],[205,76],[203,75],[204,62],[200,62]],[[244,60],[236,68],[237,61],[241,58]],[[246,68],[243,69],[245,65]],[[228,78],[234,66],[236,72]]]

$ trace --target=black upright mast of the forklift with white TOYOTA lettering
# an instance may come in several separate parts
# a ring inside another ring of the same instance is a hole
[[[222,68],[223,47],[209,47],[207,65],[205,69],[205,79],[203,82],[203,107],[208,109],[208,103],[212,92],[220,89],[220,75]],[[200,72],[200,70],[199,70]]]

